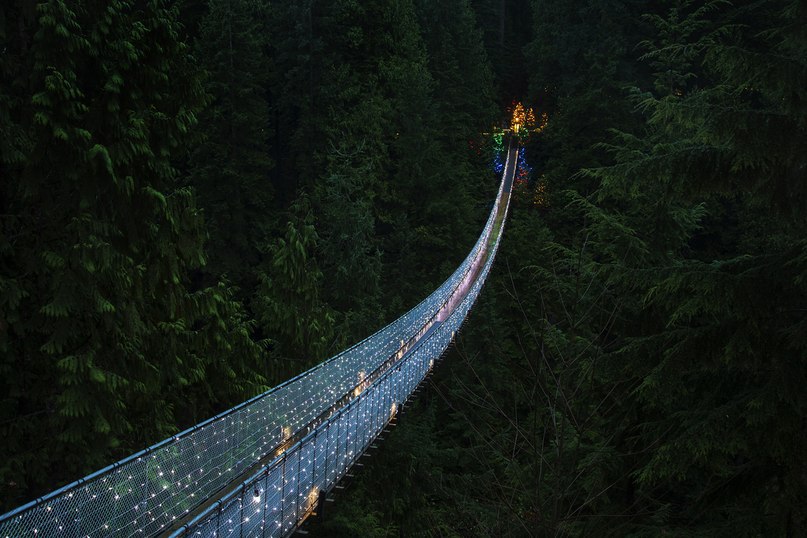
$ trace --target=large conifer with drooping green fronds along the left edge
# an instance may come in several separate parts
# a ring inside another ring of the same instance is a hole
[[[8,507],[253,393],[260,365],[230,292],[189,280],[204,228],[172,156],[205,94],[175,10],[51,0],[0,12]]]

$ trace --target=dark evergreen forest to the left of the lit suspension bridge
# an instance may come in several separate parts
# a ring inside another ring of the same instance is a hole
[[[453,270],[495,189],[469,146],[492,75],[458,5],[0,6],[2,508],[316,364]]]

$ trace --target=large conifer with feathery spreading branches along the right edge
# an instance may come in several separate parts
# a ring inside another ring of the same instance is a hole
[[[653,447],[639,502],[667,528],[803,532],[804,16],[671,2],[650,17],[647,129],[594,174],[647,249],[622,273],[642,323],[615,359],[638,384],[636,448]]]

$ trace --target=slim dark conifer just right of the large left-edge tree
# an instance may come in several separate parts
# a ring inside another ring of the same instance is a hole
[[[265,11],[254,0],[210,1],[196,46],[212,102],[200,117],[205,141],[191,155],[190,175],[210,234],[209,269],[246,296],[258,245],[274,225]]]

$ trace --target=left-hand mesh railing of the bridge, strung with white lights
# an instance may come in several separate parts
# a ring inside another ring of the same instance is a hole
[[[500,186],[501,197],[503,185]],[[3,536],[153,535],[271,454],[435,317],[478,263],[495,222],[457,270],[398,320],[299,376],[0,517]]]

